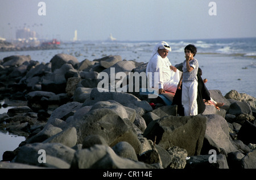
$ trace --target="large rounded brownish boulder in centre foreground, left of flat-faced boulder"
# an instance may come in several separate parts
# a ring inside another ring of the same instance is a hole
[[[142,145],[137,138],[133,124],[122,119],[117,111],[110,108],[96,108],[84,116],[77,116],[69,122],[69,126],[77,129],[77,143],[90,135],[104,137],[109,146],[114,146],[120,141],[131,144],[137,154],[141,153]]]

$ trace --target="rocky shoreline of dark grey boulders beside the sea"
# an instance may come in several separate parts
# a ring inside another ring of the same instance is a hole
[[[3,58],[0,99],[19,104],[0,114],[0,128],[27,139],[3,154],[0,168],[256,168],[256,98],[209,90],[225,106],[179,116],[177,106],[159,99],[153,108],[138,92],[99,89],[98,74],[111,76],[110,68],[141,73],[146,64],[120,56],[79,62],[58,54],[48,63]]]

